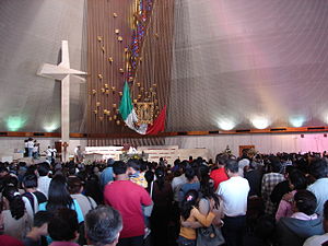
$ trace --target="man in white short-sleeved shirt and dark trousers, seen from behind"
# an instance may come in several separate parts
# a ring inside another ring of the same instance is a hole
[[[239,176],[236,160],[227,160],[224,168],[230,179],[222,181],[218,189],[218,195],[223,201],[222,233],[227,246],[243,246],[247,197],[250,188],[247,179]]]

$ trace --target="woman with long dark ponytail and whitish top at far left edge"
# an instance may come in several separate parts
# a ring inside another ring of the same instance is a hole
[[[16,187],[9,185],[2,191],[3,234],[23,239],[31,229],[32,221]]]

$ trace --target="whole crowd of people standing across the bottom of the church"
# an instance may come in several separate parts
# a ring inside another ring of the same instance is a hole
[[[326,153],[0,163],[0,245],[328,244]]]

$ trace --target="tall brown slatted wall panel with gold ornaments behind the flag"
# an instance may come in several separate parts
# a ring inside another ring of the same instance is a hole
[[[142,3],[143,2],[143,3]],[[114,144],[108,136],[142,137],[125,126],[119,112],[122,87],[131,65],[128,55],[138,4],[152,2],[140,57],[130,79],[133,102],[153,102],[156,117],[169,94],[174,1],[87,1],[87,136],[90,145]],[[137,15],[136,15],[137,13]],[[142,13],[140,13],[142,14]],[[104,137],[96,137],[103,134]],[[142,138],[144,139],[144,138]],[[140,141],[141,144],[152,141]],[[132,141],[127,139],[127,141]],[[133,140],[137,141],[137,140]],[[157,141],[161,144],[161,141]]]

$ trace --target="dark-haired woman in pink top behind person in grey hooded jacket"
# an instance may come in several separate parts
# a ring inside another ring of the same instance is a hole
[[[306,189],[306,177],[300,169],[293,169],[289,175],[289,183],[291,192],[283,196],[281,199],[277,213],[276,221],[278,222],[283,216],[291,216],[293,214],[293,200],[297,190]]]

